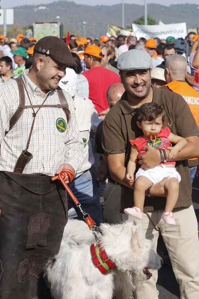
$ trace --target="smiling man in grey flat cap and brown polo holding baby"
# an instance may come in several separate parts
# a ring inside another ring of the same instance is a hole
[[[136,124],[138,108],[149,102],[162,106],[166,112],[164,126],[168,126],[173,134],[187,140],[186,147],[175,159],[176,169],[181,175],[179,198],[173,210],[176,225],[171,227],[161,219],[166,200],[163,187],[166,178],[146,191],[148,196],[145,198],[143,219],[136,219],[136,222],[141,223],[145,236],[152,240],[154,249],[161,232],[180,285],[181,298],[195,299],[199,294],[199,242],[187,159],[199,156],[199,132],[186,101],[179,94],[151,85],[151,66],[152,59],[145,51],[130,50],[118,58],[118,69],[125,93],[104,120],[102,146],[112,179],[121,184],[121,213],[124,213],[125,208],[133,205],[133,186],[129,187],[126,180],[126,167],[130,153],[129,141],[141,135]],[[138,156],[138,166],[144,170],[158,166],[161,162],[159,150],[150,146],[144,149],[146,153]],[[165,150],[165,154],[164,161],[167,160],[169,150]],[[129,216],[129,220],[135,219]],[[136,299],[158,299],[155,286],[157,271],[152,273],[152,277],[147,281],[134,280]]]

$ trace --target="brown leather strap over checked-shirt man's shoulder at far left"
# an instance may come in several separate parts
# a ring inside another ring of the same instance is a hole
[[[15,78],[13,80],[16,80],[18,85],[18,91],[19,91],[19,106],[16,110],[16,112],[13,114],[13,116],[10,119],[10,128],[9,131],[13,128],[13,126],[17,123],[19,118],[24,112],[24,109],[20,105],[25,105],[25,94],[24,94],[24,86],[21,78]],[[6,132],[7,134],[8,132]]]

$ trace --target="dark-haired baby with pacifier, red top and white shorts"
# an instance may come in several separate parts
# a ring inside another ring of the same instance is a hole
[[[138,109],[137,125],[142,129],[143,135],[130,140],[131,153],[127,165],[127,181],[131,184],[134,181],[134,172],[138,161],[138,155],[144,155],[145,145],[153,146],[159,149],[161,155],[161,163],[152,169],[143,170],[139,168],[135,175],[134,187],[134,206],[132,208],[124,209],[124,213],[142,219],[145,191],[153,184],[157,184],[164,177],[169,179],[165,182],[164,188],[167,190],[166,206],[162,214],[162,219],[167,224],[175,225],[172,210],[178,200],[179,182],[181,176],[175,169],[175,158],[183,147],[186,146],[187,141],[171,133],[170,129],[162,126],[164,124],[165,112],[161,106],[156,103],[145,103]],[[175,144],[172,147],[172,144]],[[165,149],[169,149],[169,155],[166,159]]]

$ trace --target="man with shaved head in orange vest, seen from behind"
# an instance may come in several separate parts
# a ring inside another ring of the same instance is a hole
[[[199,92],[186,83],[186,73],[186,58],[181,55],[170,55],[166,59],[164,70],[164,77],[167,84],[161,87],[161,89],[167,89],[180,94],[189,105],[197,126],[199,127]],[[188,163],[191,181],[193,182],[198,166],[198,159],[190,159]]]

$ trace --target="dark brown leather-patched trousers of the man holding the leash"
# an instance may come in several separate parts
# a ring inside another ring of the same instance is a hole
[[[0,298],[42,298],[38,276],[58,253],[67,195],[51,177],[0,172]]]

